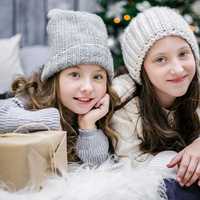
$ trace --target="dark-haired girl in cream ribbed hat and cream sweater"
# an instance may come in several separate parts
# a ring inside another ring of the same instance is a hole
[[[121,46],[128,74],[113,80],[122,102],[112,119],[117,154],[172,173],[181,186],[200,185],[199,48],[190,26],[152,7],[132,19]]]

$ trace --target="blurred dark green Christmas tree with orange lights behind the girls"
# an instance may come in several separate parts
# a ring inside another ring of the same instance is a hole
[[[130,20],[141,11],[152,6],[168,6],[179,12],[191,25],[200,42],[200,0],[97,0],[100,7],[97,14],[104,20],[115,68],[123,66],[119,38]]]

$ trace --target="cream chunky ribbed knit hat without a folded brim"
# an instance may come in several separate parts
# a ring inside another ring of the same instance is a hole
[[[198,43],[189,24],[170,8],[152,7],[133,18],[121,37],[125,65],[137,83],[141,84],[141,68],[148,50],[165,36],[180,36],[186,40],[198,66]]]

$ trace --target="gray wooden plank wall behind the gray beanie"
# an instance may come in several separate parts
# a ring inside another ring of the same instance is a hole
[[[22,46],[46,44],[48,10],[95,12],[95,7],[95,0],[0,0],[0,38],[21,33]]]

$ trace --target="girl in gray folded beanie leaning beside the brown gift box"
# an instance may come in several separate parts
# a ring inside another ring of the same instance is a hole
[[[69,161],[100,164],[111,149],[109,139],[116,138],[109,127],[117,96],[110,87],[105,25],[97,15],[78,11],[53,9],[48,18],[49,60],[40,74],[13,83],[16,97],[0,106],[0,122],[7,120],[0,131],[33,122],[62,128]]]

